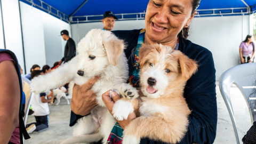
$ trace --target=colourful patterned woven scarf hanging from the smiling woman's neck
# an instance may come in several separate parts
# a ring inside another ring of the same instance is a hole
[[[140,80],[139,49],[142,46],[142,43],[144,42],[145,32],[146,32],[146,29],[140,30],[138,44],[136,46],[136,51],[135,51],[133,75],[129,78],[129,83],[133,87],[139,86],[139,80]],[[179,36],[177,37],[177,44],[175,47],[175,51],[177,51],[178,49],[179,49]],[[122,129],[122,127],[118,123],[116,123],[113,129],[111,130],[111,133],[108,137],[107,144],[121,144],[123,140],[123,131],[124,130]]]

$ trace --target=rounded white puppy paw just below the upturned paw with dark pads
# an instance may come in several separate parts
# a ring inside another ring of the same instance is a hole
[[[114,104],[112,113],[118,121],[123,121],[124,119],[127,119],[129,114],[131,114],[133,110],[134,109],[131,102],[125,100],[118,100]]]

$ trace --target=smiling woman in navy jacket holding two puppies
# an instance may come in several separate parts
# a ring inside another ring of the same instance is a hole
[[[186,40],[189,24],[197,13],[199,3],[200,0],[150,0],[145,15],[146,30],[113,31],[127,43],[125,54],[129,64],[129,80],[133,85],[137,85],[139,79],[139,69],[133,68],[135,50],[139,50],[142,43],[171,46],[195,59],[199,64],[197,73],[186,84],[184,97],[192,111],[189,116],[188,132],[179,143],[213,143],[217,129],[215,68],[212,54],[204,47]],[[74,125],[78,118],[90,114],[91,109],[95,107],[95,94],[90,89],[97,79],[98,77],[90,79],[82,86],[74,86],[71,101],[71,110],[74,113],[71,112],[70,126]],[[113,94],[115,101],[119,96],[117,93]],[[109,91],[102,95],[102,99],[111,113],[114,101],[109,98]],[[135,114],[132,113],[127,120],[118,123],[125,129],[134,118]],[[162,142],[145,138],[141,143]]]

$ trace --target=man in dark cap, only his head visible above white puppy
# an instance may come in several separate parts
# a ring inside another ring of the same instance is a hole
[[[103,30],[111,31],[115,26],[115,19],[117,20],[113,12],[106,11],[103,14],[103,19],[102,19],[102,23],[104,25]]]

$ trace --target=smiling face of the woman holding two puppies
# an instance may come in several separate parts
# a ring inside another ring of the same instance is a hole
[[[193,0],[149,0],[145,22],[146,35],[151,41],[168,43],[194,18]]]

